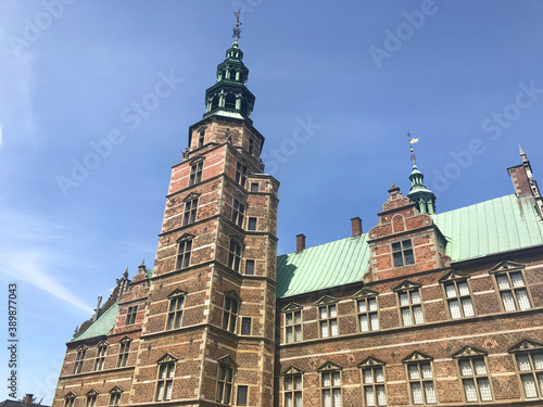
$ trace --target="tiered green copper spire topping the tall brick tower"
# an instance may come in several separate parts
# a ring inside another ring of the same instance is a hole
[[[233,43],[226,51],[226,60],[217,66],[217,82],[205,91],[205,113],[209,116],[226,116],[241,118],[252,124],[251,113],[254,96],[245,87],[249,69],[243,64],[243,52],[239,49],[238,38],[241,28],[240,13],[236,13],[237,23],[233,28]]]

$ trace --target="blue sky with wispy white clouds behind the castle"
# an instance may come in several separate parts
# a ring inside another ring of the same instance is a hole
[[[513,193],[519,143],[543,181],[541,1],[2,0],[0,280],[3,298],[20,284],[20,397],[50,403],[97,296],[152,267],[238,5],[279,254],[298,233],[348,237],[355,216],[375,226],[391,180],[408,192],[407,131],[439,212]]]

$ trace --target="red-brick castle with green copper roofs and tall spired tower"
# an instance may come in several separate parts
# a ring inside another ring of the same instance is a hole
[[[248,75],[236,40],[172,169],[153,270],[125,271],[67,342],[52,406],[543,405],[527,155],[514,194],[445,213],[414,164],[368,232],[353,218],[351,237],[277,256]]]

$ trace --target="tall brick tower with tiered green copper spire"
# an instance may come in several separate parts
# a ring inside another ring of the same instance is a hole
[[[263,173],[238,36],[172,170],[134,404],[274,403],[279,182]]]

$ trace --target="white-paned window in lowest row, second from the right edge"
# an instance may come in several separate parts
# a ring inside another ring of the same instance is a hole
[[[458,360],[466,402],[492,402],[492,391],[483,356]]]

